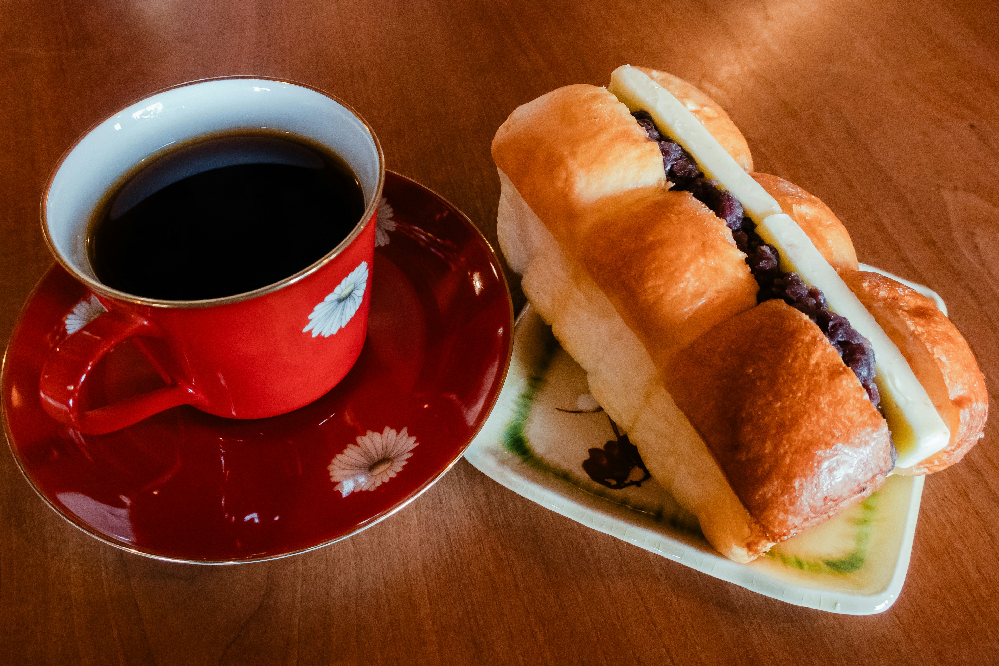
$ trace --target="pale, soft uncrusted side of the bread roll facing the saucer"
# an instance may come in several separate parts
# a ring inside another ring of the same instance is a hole
[[[590,392],[649,472],[697,516],[712,546],[748,562],[772,542],[754,527],[703,440],[666,392],[648,351],[500,171],[497,233],[524,295],[586,370]]]

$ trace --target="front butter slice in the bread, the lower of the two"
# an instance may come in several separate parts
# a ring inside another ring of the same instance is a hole
[[[909,467],[936,453],[950,441],[950,430],[937,413],[905,356],[878,326],[860,300],[819,254],[811,239],[790,216],[780,213],[757,225],[756,233],[777,248],[780,268],[818,287],[829,310],[845,317],[874,347],[875,376],[881,410],[898,449],[897,468]]]

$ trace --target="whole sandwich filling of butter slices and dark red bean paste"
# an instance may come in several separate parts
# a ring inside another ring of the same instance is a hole
[[[760,287],[757,299],[783,299],[807,315],[864,387],[873,384],[867,392],[888,422],[897,466],[908,467],[943,449],[950,431],[901,351],[776,200],[679,100],[641,70],[617,68],[608,90],[632,113],[642,112],[636,120],[646,134],[651,125],[658,135],[653,140],[660,142],[664,164],[671,159],[667,178],[677,178],[674,185],[688,189],[724,219],[736,244],[744,244],[739,249]],[[696,175],[691,174],[694,168]]]

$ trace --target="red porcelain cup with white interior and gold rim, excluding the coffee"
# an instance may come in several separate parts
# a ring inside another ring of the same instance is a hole
[[[248,128],[299,135],[347,161],[366,206],[350,235],[295,275],[226,298],[161,301],[101,284],[87,259],[86,233],[105,193],[174,143]],[[42,371],[45,410],[82,432],[101,434],[180,404],[219,416],[262,418],[329,391],[364,345],[384,181],[382,148],[368,123],[344,102],[302,84],[237,77],[197,81],[155,93],[95,125],[62,157],[42,199],[49,247],[94,295],[73,316],[85,326],[53,349]],[[88,373],[125,340],[146,353],[167,385],[83,408]]]

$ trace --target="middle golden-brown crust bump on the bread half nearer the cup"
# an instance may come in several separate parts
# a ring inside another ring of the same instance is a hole
[[[660,367],[669,355],[756,305],[732,233],[688,192],[623,203],[594,223],[579,262]]]

